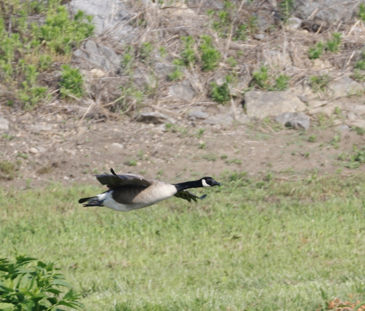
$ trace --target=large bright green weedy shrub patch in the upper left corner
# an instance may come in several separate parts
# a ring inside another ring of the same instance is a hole
[[[91,16],[78,11],[70,17],[67,8],[59,3],[59,0],[1,1],[0,79],[9,88],[9,98],[5,98],[8,103],[19,102],[29,110],[47,99],[48,89],[39,85],[39,72],[47,70],[54,58],[62,61],[60,56],[69,56],[74,47],[92,35]],[[37,13],[46,15],[45,19],[38,19],[43,24],[33,22],[32,16]],[[12,27],[7,27],[8,23]],[[61,94],[65,96],[66,91],[71,91],[78,96],[78,87],[76,84],[74,88],[63,88]]]

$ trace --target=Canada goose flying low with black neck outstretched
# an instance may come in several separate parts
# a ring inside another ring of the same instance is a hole
[[[155,178],[145,178],[136,174],[117,175],[111,168],[110,174],[95,175],[109,190],[92,197],[84,197],[78,203],[88,202],[84,206],[105,206],[112,210],[128,212],[138,208],[150,206],[173,195],[182,199],[204,199],[187,191],[189,188],[213,187],[221,185],[212,177],[203,177],[199,180],[185,181],[185,183],[169,184]]]

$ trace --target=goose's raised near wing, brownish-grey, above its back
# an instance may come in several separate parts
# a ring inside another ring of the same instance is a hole
[[[113,169],[110,174],[95,175],[100,184],[106,185],[108,188],[116,188],[124,185],[149,186],[152,182],[145,177],[137,174],[121,174],[117,175]]]

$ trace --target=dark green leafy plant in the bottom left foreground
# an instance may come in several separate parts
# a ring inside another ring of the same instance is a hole
[[[15,262],[0,259],[0,310],[57,310],[63,306],[82,309],[80,295],[72,289],[53,262],[16,256]],[[70,288],[62,298],[60,287]]]

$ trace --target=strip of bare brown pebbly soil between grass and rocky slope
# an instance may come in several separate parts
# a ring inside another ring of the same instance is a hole
[[[341,131],[338,115],[314,117],[310,130],[303,132],[269,119],[208,125],[189,120],[177,108],[170,111],[177,123],[163,131],[159,124],[135,122],[126,115],[80,121],[60,112],[3,112],[10,130],[0,136],[1,161],[15,164],[14,173],[2,174],[5,187],[45,187],[51,181],[96,185],[93,175],[110,168],[173,183],[227,172],[291,180],[348,175],[365,167],[345,167],[362,150],[365,135]]]

